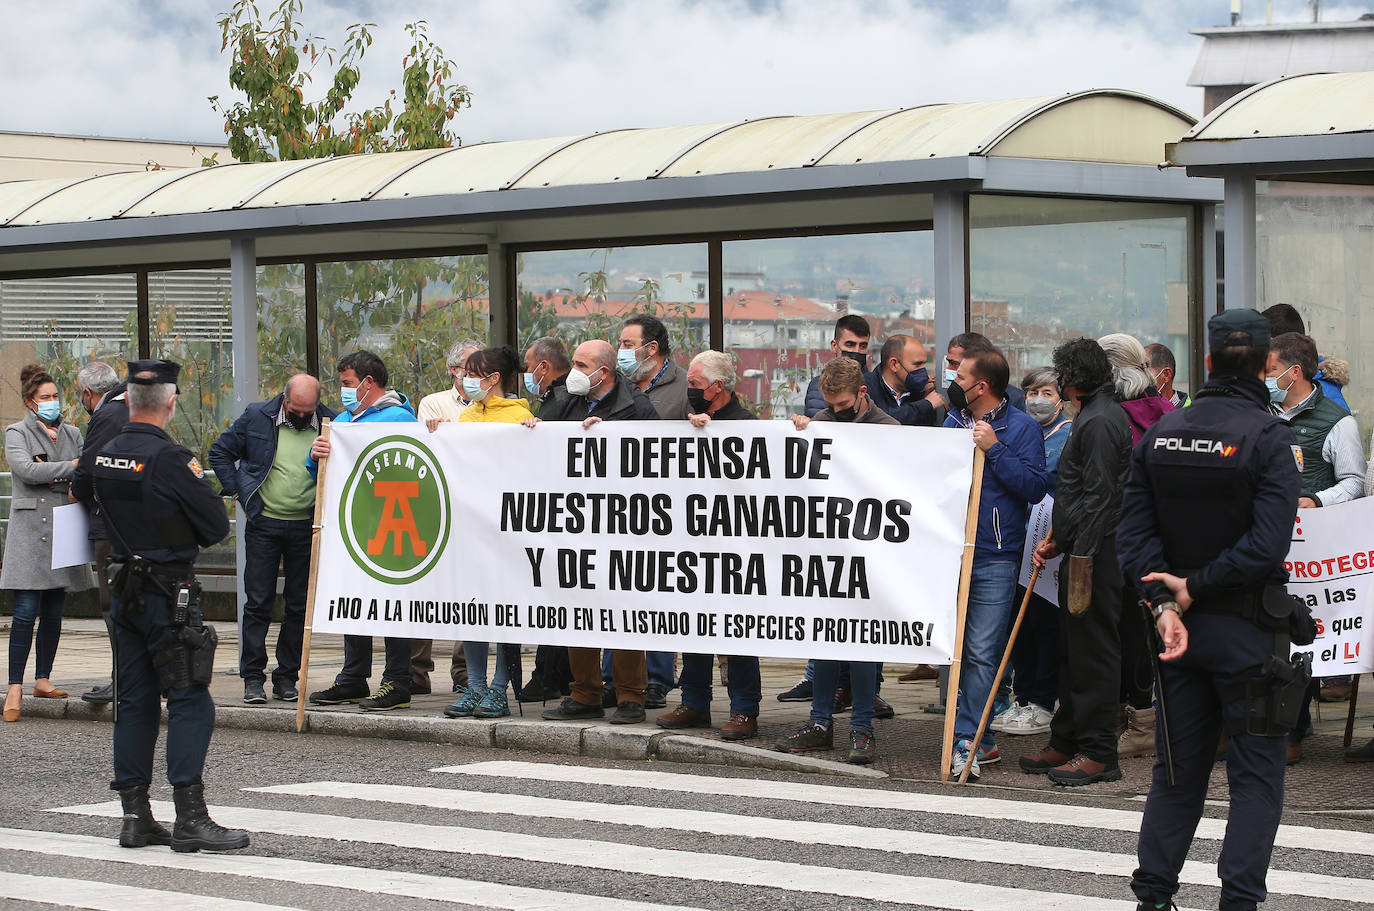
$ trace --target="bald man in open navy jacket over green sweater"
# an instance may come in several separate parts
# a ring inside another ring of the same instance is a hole
[[[334,416],[320,404],[320,381],[297,374],[269,401],[256,401],[210,445],[210,467],[221,496],[235,496],[247,517],[243,532],[243,614],[239,676],[243,702],[267,702],[267,628],[282,567],[284,613],[276,636],[272,697],[295,702],[305,633],[305,596],[311,581],[311,532],[315,478],[305,458],[320,422]]]

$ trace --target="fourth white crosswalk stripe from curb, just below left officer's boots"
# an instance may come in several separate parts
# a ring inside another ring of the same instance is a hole
[[[220,816],[218,808],[216,808],[214,815]],[[429,899],[430,901],[448,901],[451,904],[477,906],[482,908],[504,908],[506,911],[697,911],[676,904],[628,901],[574,892],[526,889],[522,886],[508,886],[502,882],[482,882],[481,879],[456,879],[396,870],[372,870],[368,867],[348,867],[311,860],[264,857],[261,855],[179,855],[173,853],[170,848],[140,848],[132,851],[120,848],[114,838],[92,838],[91,835],[29,831],[25,829],[0,829],[0,849],[135,864],[140,867],[165,867],[192,873],[250,877],[273,882],[328,886],[333,889],[353,889],[356,892]],[[109,889],[106,884],[96,885],[102,890]],[[63,903],[73,904],[69,900],[63,900]],[[106,906],[80,907],[103,908]],[[165,895],[151,906],[113,904],[114,911],[132,911],[133,908],[142,911],[143,907],[147,907],[148,911],[166,911],[169,907],[194,907],[199,911],[199,908],[206,906],[201,904],[199,900],[190,906],[184,901],[168,901]]]

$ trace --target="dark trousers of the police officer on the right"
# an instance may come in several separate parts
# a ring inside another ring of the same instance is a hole
[[[1168,901],[1179,890],[1179,870],[1202,818],[1221,724],[1243,715],[1242,702],[1223,704],[1219,694],[1261,676],[1274,653],[1274,633],[1249,620],[1190,610],[1183,622],[1187,651],[1160,664],[1175,786],[1169,787],[1164,768],[1164,727],[1156,726],[1158,756],[1140,823],[1140,866],[1131,879],[1136,897],[1154,903]],[[1231,734],[1227,741],[1231,812],[1216,864],[1221,911],[1250,911],[1264,901],[1264,875],[1283,813],[1286,753],[1283,735]]]

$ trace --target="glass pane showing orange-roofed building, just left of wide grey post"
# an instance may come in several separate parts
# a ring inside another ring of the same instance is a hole
[[[845,313],[868,320],[875,355],[889,335],[934,338],[927,231],[732,240],[723,265],[725,350],[739,363],[741,400],[760,418],[802,411]]]

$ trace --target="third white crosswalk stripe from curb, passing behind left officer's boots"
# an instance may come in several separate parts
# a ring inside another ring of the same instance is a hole
[[[168,815],[172,805],[154,801],[154,812]],[[120,804],[63,807],[52,812],[85,816],[120,816]],[[868,870],[735,857],[644,848],[591,838],[556,838],[462,826],[429,826],[324,813],[298,813],[249,807],[216,807],[216,822],[297,838],[363,841],[416,851],[488,857],[513,857],[588,870],[614,870],[643,877],[672,877],[698,882],[730,882],[742,886],[834,895],[871,901],[925,904],[959,911],[1134,911],[1135,901],[1077,896],[1036,889],[1013,889],[956,879],[911,877]]]

